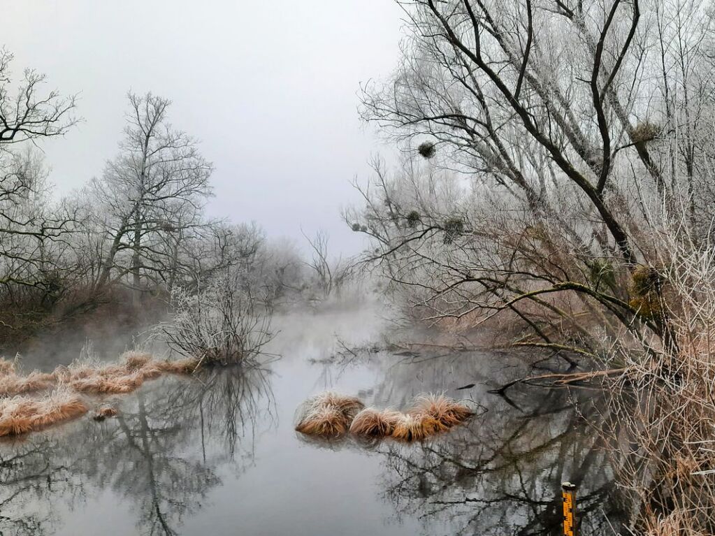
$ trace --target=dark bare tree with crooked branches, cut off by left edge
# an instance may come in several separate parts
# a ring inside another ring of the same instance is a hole
[[[0,49],[0,285],[5,309],[53,304],[66,267],[58,257],[76,214],[52,204],[41,158],[32,145],[61,136],[77,119],[74,96],[43,91],[43,74],[26,69],[14,84],[13,56]],[[29,145],[30,144],[30,145]],[[14,318],[2,315],[0,326]],[[26,319],[33,317],[27,312]]]

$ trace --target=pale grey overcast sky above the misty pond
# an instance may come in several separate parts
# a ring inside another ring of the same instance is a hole
[[[210,215],[297,242],[322,228],[355,252],[340,207],[359,202],[350,181],[369,177],[370,154],[390,151],[356,93],[394,68],[400,15],[391,0],[16,1],[0,46],[15,78],[33,67],[80,93],[84,123],[44,144],[60,194],[116,154],[127,91],[153,91],[215,164]]]

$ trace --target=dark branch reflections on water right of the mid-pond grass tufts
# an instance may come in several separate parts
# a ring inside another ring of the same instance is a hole
[[[560,535],[561,482],[570,480],[579,489],[579,534],[621,532],[625,515],[609,460],[584,418],[598,421],[598,398],[522,387],[504,400],[487,393],[487,377],[498,372],[483,359],[463,358],[415,360],[385,374],[378,400],[408,401],[433,386],[449,391],[467,378],[481,382],[470,392],[485,407],[468,425],[422,445],[383,442],[385,499],[450,534]]]

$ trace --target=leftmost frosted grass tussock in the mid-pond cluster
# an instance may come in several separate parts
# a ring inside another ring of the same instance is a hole
[[[350,423],[362,409],[360,399],[327,391],[305,402],[295,430],[307,435],[337,437],[350,429]]]

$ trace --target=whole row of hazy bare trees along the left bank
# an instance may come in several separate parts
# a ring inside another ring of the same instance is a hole
[[[0,345],[124,294],[132,307],[186,302],[231,282],[250,297],[242,310],[270,312],[332,292],[292,244],[206,216],[213,165],[162,96],[129,93],[116,156],[56,200],[36,147],[77,123],[77,101],[32,70],[15,82],[11,59],[0,52]]]

